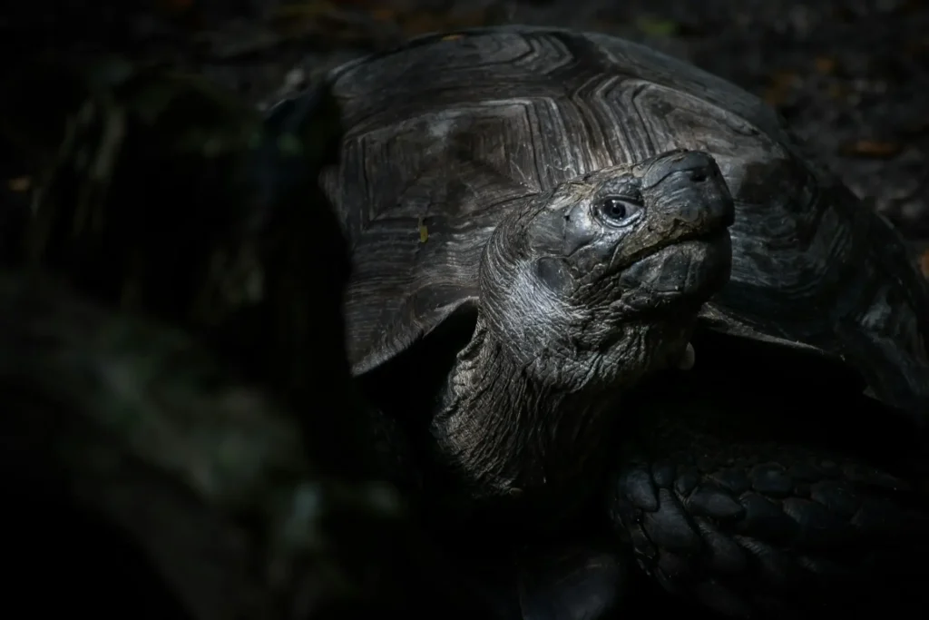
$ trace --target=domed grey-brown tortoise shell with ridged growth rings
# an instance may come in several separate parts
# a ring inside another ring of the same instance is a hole
[[[685,148],[735,199],[729,284],[701,324],[846,363],[926,410],[929,293],[896,231],[804,151],[763,101],[615,37],[509,26],[433,34],[329,76],[346,128],[323,171],[352,248],[355,375],[478,305],[507,204]]]

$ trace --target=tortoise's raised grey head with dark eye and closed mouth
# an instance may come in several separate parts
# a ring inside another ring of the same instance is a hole
[[[728,280],[733,218],[703,152],[563,183],[494,231],[481,263],[485,321],[528,372],[567,389],[684,365],[700,307]]]

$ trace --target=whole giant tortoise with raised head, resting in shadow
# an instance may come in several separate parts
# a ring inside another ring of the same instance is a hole
[[[613,564],[591,543],[545,569],[563,578],[517,570],[513,613],[605,613],[628,548],[737,617],[896,588],[887,610],[925,576],[901,558],[929,534],[909,480],[929,295],[761,100],[644,46],[519,26],[326,81],[349,362],[409,429],[425,514],[463,553],[620,534]]]

